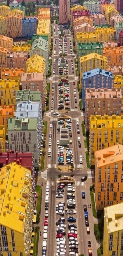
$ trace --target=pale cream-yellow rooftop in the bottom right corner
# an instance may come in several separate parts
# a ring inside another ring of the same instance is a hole
[[[114,204],[104,208],[108,233],[123,230],[123,203]]]

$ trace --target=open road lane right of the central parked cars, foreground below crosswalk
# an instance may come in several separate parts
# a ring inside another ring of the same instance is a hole
[[[86,226],[85,226],[83,205],[86,204],[86,200],[82,199],[81,197],[82,191],[83,191],[82,186],[76,186],[76,195],[77,195],[76,200],[77,200],[77,209],[78,209],[78,232],[79,232],[78,242],[79,242],[79,250],[80,250],[79,253],[88,255],[87,241],[90,239],[90,236],[87,235]]]

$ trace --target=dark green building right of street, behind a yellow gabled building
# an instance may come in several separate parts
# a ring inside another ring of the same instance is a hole
[[[80,57],[88,55],[90,53],[97,53],[102,55],[103,53],[103,43],[78,43],[77,44],[77,61],[78,61],[78,70],[80,68]]]

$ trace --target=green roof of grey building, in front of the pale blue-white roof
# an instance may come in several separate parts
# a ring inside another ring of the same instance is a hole
[[[9,118],[8,131],[37,130],[37,118]]]

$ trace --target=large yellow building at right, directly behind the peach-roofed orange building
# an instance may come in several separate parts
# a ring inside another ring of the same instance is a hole
[[[93,106],[92,106],[93,107]],[[110,102],[109,102],[110,109]],[[114,108],[115,109],[115,100]],[[101,110],[100,110],[101,111]],[[95,152],[104,148],[108,148],[118,143],[123,143],[123,115],[107,116],[101,115],[90,116],[90,161],[91,165],[95,165]]]

